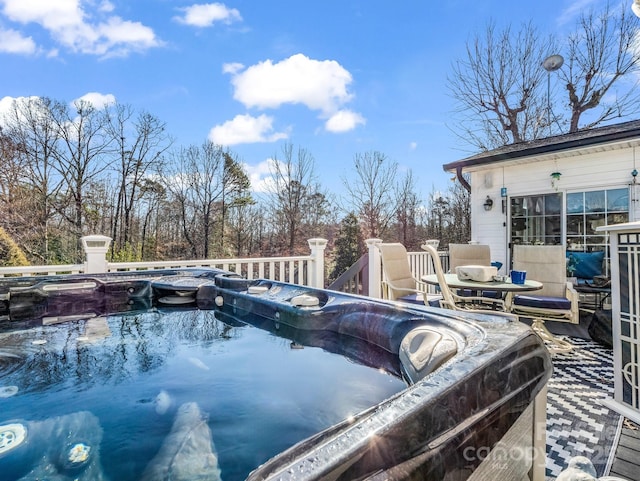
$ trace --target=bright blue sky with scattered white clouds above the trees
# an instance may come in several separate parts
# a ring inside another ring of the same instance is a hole
[[[0,0],[0,111],[28,96],[116,100],[165,121],[176,145],[228,145],[255,179],[291,142],[334,193],[356,153],[380,151],[426,198],[447,188],[442,164],[473,153],[448,127],[466,42],[490,20],[562,35],[604,3]]]

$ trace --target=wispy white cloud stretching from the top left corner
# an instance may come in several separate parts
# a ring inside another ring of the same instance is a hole
[[[3,0],[2,13],[13,22],[35,23],[64,47],[84,54],[124,56],[161,46],[153,30],[111,15],[113,4],[100,2],[87,13],[81,0]],[[94,17],[97,21],[93,20]]]

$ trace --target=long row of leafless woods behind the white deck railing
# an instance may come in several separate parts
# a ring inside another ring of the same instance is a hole
[[[324,237],[337,276],[369,237],[409,249],[469,240],[466,190],[423,199],[412,173],[400,175],[382,152],[354,155],[338,197],[322,186],[313,154],[286,143],[256,192],[232,150],[176,146],[163,121],[128,105],[23,98],[0,125],[0,239],[31,264],[81,262],[88,234],[112,238],[111,261],[296,255]],[[2,265],[16,259],[0,247]]]

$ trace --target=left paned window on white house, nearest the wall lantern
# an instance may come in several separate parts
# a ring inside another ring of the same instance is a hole
[[[562,244],[562,194],[512,197],[511,244]]]

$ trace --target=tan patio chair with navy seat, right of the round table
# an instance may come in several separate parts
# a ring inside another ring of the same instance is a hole
[[[561,245],[514,245],[513,269],[526,271],[527,278],[542,282],[542,289],[507,296],[510,311],[533,319],[532,328],[548,343],[552,352],[567,352],[572,345],[553,336],[544,321],[578,324],[578,293],[567,282],[565,249]]]

